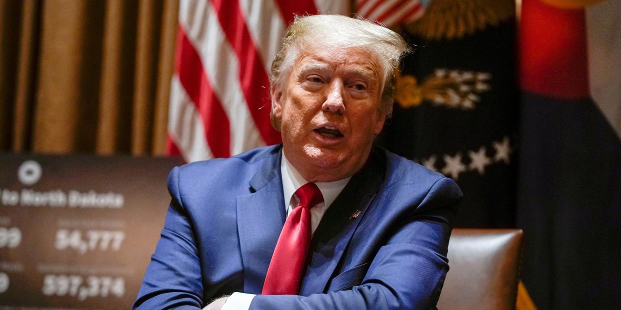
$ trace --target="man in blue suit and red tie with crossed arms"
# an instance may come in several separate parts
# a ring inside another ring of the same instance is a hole
[[[283,143],[173,169],[134,308],[434,308],[461,191],[373,146],[406,51],[366,20],[298,17],[272,64]],[[319,199],[306,206],[309,187]]]

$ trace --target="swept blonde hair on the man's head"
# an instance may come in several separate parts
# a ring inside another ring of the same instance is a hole
[[[289,79],[300,51],[307,47],[361,47],[381,60],[384,89],[381,110],[392,113],[394,71],[409,48],[396,32],[361,17],[343,15],[296,16],[271,65],[270,84],[283,86]]]

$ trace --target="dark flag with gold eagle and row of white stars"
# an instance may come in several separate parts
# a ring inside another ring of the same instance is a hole
[[[514,227],[513,0],[433,0],[403,30],[414,52],[397,74],[382,144],[460,185],[456,226]]]

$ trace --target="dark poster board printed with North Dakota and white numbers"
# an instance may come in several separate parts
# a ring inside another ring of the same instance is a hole
[[[174,158],[0,154],[0,309],[127,309]]]

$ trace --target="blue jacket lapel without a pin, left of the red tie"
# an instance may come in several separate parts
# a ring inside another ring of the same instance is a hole
[[[277,152],[277,153],[276,153]],[[260,294],[285,220],[279,148],[250,180],[252,193],[237,197],[237,231],[245,293]]]

